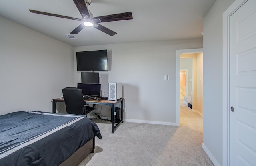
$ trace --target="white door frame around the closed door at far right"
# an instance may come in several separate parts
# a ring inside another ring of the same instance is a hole
[[[248,0],[235,0],[234,3],[228,7],[228,9],[223,13],[223,74],[222,74],[222,165],[229,166],[230,165],[230,151],[229,151],[229,118],[230,118],[230,105],[229,105],[229,83],[230,83],[230,16],[236,12],[244,3]]]

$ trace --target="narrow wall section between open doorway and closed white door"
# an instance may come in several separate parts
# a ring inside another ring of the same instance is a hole
[[[234,0],[217,0],[204,17],[204,150],[222,165],[222,13]]]

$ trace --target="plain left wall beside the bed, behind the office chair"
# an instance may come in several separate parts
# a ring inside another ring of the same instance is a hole
[[[0,115],[52,111],[73,83],[73,47],[0,17]]]

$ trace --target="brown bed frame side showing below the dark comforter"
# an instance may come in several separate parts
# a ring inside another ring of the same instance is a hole
[[[88,141],[84,146],[76,150],[67,160],[62,162],[59,166],[78,166],[86,156],[94,153],[95,137]]]

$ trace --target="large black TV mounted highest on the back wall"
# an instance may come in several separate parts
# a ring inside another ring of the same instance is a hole
[[[107,71],[107,50],[76,52],[77,71]]]

